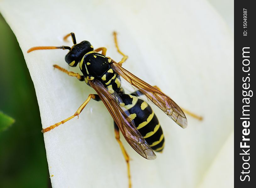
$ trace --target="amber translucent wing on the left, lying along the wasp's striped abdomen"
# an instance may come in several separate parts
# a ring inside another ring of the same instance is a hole
[[[156,159],[155,153],[136,129],[133,120],[129,118],[130,113],[123,110],[118,104],[121,98],[117,94],[111,95],[103,84],[97,80],[89,81],[89,83],[109,110],[110,115],[131,147],[146,159]],[[117,99],[117,97],[119,98]]]

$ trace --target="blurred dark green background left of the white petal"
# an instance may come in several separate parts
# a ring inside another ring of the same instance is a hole
[[[0,111],[15,119],[0,132],[0,187],[49,187],[36,93],[12,30],[0,15]]]

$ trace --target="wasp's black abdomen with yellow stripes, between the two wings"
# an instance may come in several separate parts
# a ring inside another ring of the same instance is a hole
[[[149,146],[155,151],[162,151],[164,134],[152,108],[136,96],[120,94],[120,97],[125,103],[125,108],[130,112],[136,128]]]

